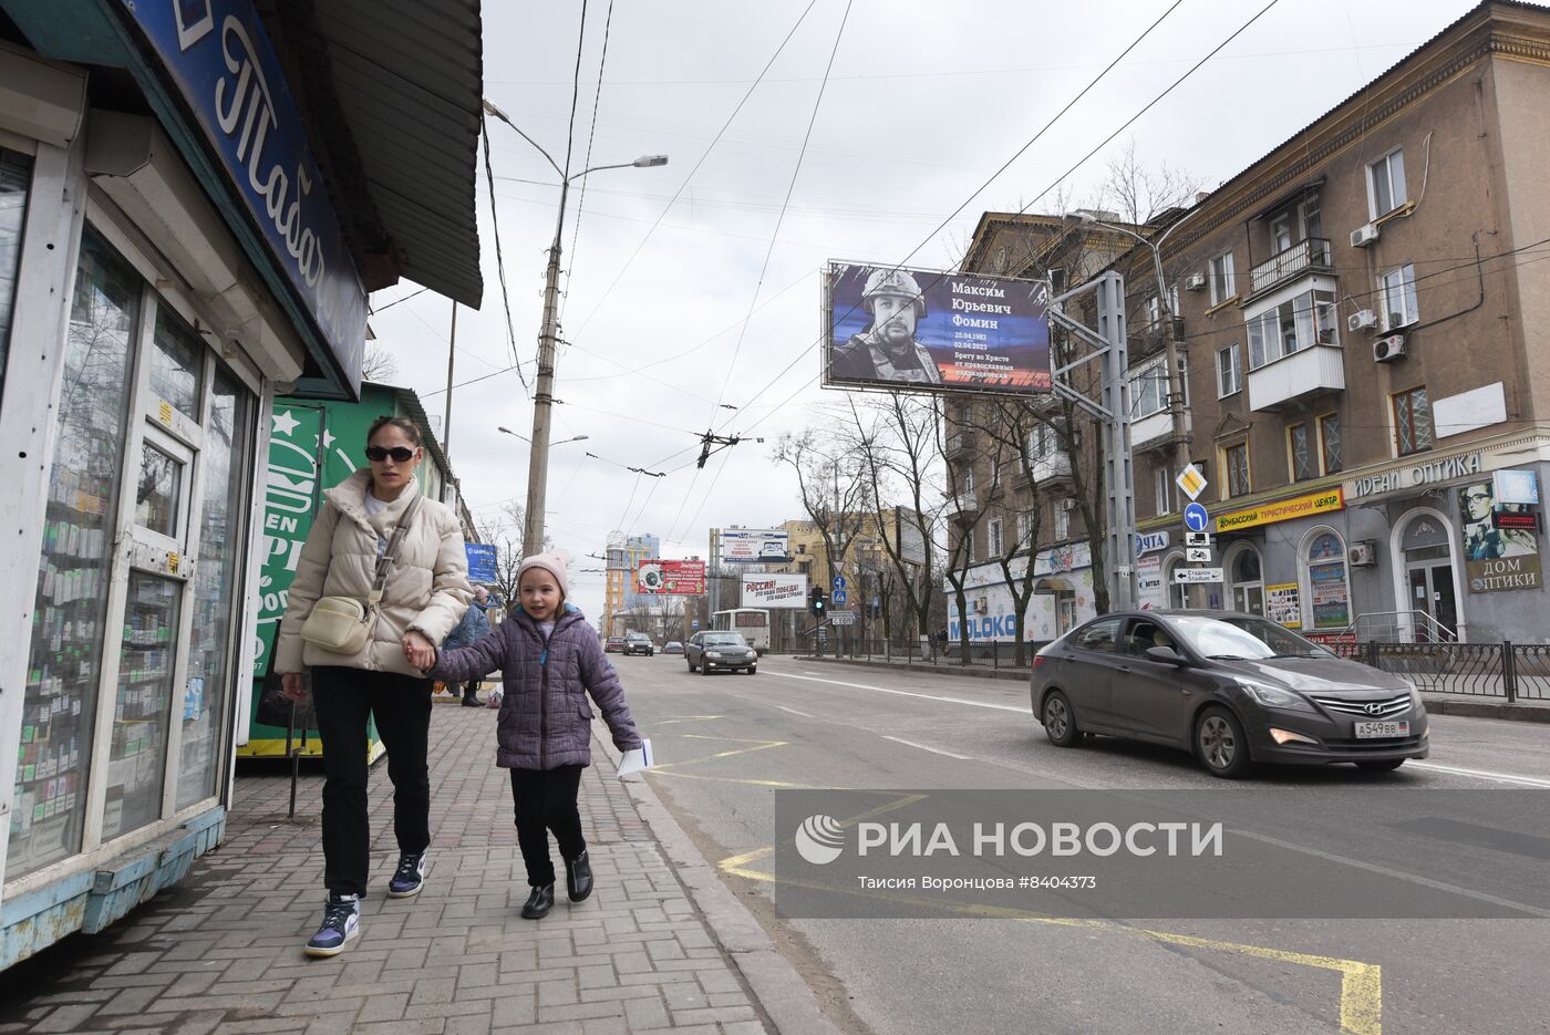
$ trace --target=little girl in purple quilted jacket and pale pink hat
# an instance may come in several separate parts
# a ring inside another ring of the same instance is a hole
[[[592,708],[586,696],[592,694],[618,750],[640,747],[640,734],[597,631],[566,603],[564,558],[525,558],[516,578],[521,606],[512,617],[470,648],[442,651],[429,674],[451,683],[501,669],[496,765],[512,770],[516,843],[532,888],[522,916],[536,920],[555,903],[546,827],[560,843],[570,900],[592,894],[592,866],[577,809],[581,770],[592,762]]]

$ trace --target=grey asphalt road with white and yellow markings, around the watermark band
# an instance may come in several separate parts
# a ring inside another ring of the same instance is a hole
[[[780,919],[775,789],[1223,784],[1183,753],[1108,739],[1051,747],[1020,682],[773,655],[756,676],[691,676],[673,655],[615,665],[653,738],[653,787],[848,1032],[1550,1032],[1545,919]],[[1252,787],[1330,809],[1375,789],[1542,793],[1547,738],[1542,725],[1437,716],[1426,762],[1276,770]],[[1330,848],[1314,826],[1283,837]],[[1364,851],[1381,851],[1372,840]],[[1471,857],[1451,848],[1438,857],[1457,889]],[[1432,860],[1384,863],[1398,880],[1438,872]]]

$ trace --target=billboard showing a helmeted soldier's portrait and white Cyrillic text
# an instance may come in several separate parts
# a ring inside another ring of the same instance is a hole
[[[823,383],[916,392],[1049,390],[1042,280],[831,262]]]

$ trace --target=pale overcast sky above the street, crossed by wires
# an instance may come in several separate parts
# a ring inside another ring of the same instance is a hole
[[[671,156],[662,169],[587,177],[566,212],[569,344],[556,364],[563,404],[552,437],[587,440],[552,449],[547,531],[574,555],[572,600],[591,618],[601,617],[603,562],[586,555],[603,553],[611,530],[654,533],[663,556],[687,558],[708,555],[711,527],[803,516],[795,476],[770,452],[781,432],[822,420],[814,404],[835,398],[817,387],[826,259],[896,263],[914,253],[910,265],[944,268],[981,212],[1046,211],[1042,192],[1263,0],[1183,0],[975,197],[1169,6],[617,0],[598,88],[609,2],[586,5],[570,169]],[[1133,139],[1142,161],[1187,170],[1211,189],[1468,9],[1462,0],[1280,0],[1065,186],[1091,197],[1105,158]],[[485,96],[561,166],[581,17],[581,0],[484,3]],[[491,121],[490,133],[516,350],[532,384],[558,178],[508,127]],[[477,519],[525,494],[527,445],[496,428],[525,435],[533,418],[518,375],[498,373],[512,366],[512,349],[490,217],[480,175],[485,296],[480,311],[459,311],[456,381],[482,380],[456,389],[451,423],[453,466]],[[412,290],[380,291],[372,304]],[[418,390],[437,418],[450,318],[451,304],[432,293],[372,318],[398,364],[394,380]],[[766,442],[744,442],[696,471],[708,428]],[[671,474],[646,479],[626,466]]]

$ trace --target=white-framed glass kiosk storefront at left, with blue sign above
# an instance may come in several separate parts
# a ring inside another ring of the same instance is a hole
[[[220,841],[271,400],[352,395],[366,315],[284,90],[225,135],[251,6],[240,84],[202,5],[3,6],[0,968]]]

